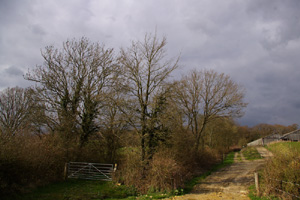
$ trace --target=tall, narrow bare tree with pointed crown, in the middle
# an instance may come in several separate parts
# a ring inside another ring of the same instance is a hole
[[[179,58],[166,59],[166,44],[165,37],[160,40],[156,34],[146,34],[143,41],[133,41],[129,48],[121,49],[120,64],[128,92],[124,113],[130,113],[128,120],[140,135],[142,160],[151,158],[149,124],[155,101],[167,91],[165,82],[178,67]]]

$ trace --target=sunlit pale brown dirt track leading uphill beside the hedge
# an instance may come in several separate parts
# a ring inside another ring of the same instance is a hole
[[[259,153],[268,158],[270,152],[263,147],[257,147]],[[213,200],[213,199],[240,199],[248,200],[248,187],[254,184],[254,172],[262,167],[265,159],[247,161],[241,154],[229,167],[223,168],[208,176],[201,184],[196,185],[192,194],[174,197],[176,200]]]

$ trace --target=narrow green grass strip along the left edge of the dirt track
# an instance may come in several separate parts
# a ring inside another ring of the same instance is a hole
[[[215,165],[211,170],[207,171],[206,173],[202,174],[201,176],[194,177],[193,179],[188,181],[185,184],[184,193],[190,193],[195,185],[199,184],[203,179],[205,179],[211,173],[213,173],[223,167],[233,164],[234,163],[234,154],[235,154],[234,152],[229,153],[222,163]]]

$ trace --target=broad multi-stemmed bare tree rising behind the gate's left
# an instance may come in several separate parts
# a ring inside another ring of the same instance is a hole
[[[113,49],[86,38],[66,41],[62,49],[42,51],[44,63],[25,76],[37,83],[53,130],[83,145],[98,129],[96,118],[114,73]]]

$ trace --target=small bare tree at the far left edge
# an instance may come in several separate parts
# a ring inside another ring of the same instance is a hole
[[[0,133],[14,136],[29,124],[35,102],[30,89],[7,88],[0,93]]]

